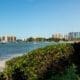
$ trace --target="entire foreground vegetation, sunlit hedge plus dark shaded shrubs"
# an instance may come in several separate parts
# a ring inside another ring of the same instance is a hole
[[[6,62],[0,80],[79,80],[79,50],[79,43],[33,50]]]

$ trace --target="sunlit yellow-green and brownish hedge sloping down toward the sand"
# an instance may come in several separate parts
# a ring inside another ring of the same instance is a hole
[[[9,80],[47,80],[53,73],[64,71],[72,53],[73,47],[70,44],[39,48],[8,61],[4,72]]]

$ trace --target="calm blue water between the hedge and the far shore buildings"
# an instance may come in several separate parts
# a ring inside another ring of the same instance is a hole
[[[8,59],[13,56],[25,54],[33,49],[54,44],[54,42],[39,42],[39,43],[0,43],[0,60]]]

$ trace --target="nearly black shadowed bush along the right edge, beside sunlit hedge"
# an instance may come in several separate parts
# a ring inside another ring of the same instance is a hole
[[[74,43],[72,46],[74,48],[74,52],[70,56],[70,61],[77,66],[77,73],[80,75],[80,43]]]

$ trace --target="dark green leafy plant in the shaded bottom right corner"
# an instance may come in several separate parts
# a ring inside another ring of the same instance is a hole
[[[56,74],[49,80],[78,80],[75,65],[69,66],[62,74]]]

